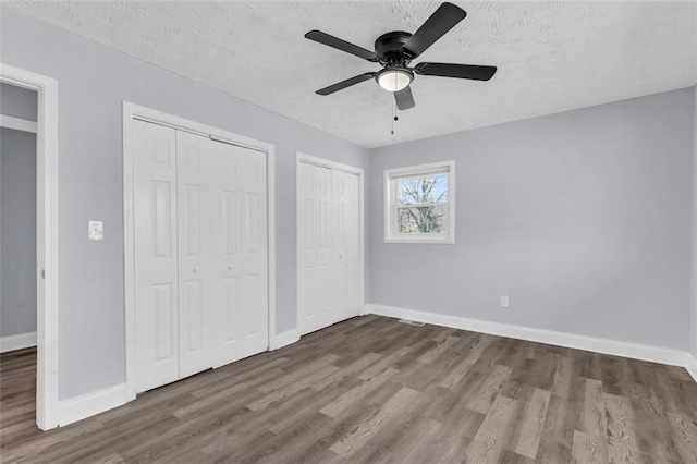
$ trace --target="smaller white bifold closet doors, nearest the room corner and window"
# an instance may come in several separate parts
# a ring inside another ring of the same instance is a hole
[[[298,314],[303,334],[360,314],[358,175],[298,164]]]

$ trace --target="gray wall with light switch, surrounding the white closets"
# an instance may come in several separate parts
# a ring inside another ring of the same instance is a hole
[[[276,145],[277,331],[293,329],[295,151],[366,168],[367,150],[8,9],[0,29],[3,62],[59,82],[59,399],[125,380],[122,100]]]

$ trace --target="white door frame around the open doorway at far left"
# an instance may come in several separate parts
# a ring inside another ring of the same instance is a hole
[[[58,426],[58,82],[0,63],[0,82],[36,90],[36,425]]]

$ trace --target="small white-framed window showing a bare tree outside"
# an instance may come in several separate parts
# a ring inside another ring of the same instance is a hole
[[[455,161],[384,171],[384,241],[455,243]]]

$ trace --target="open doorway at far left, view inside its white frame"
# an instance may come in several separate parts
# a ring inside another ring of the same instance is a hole
[[[36,422],[35,90],[0,83],[0,402],[2,429]]]

